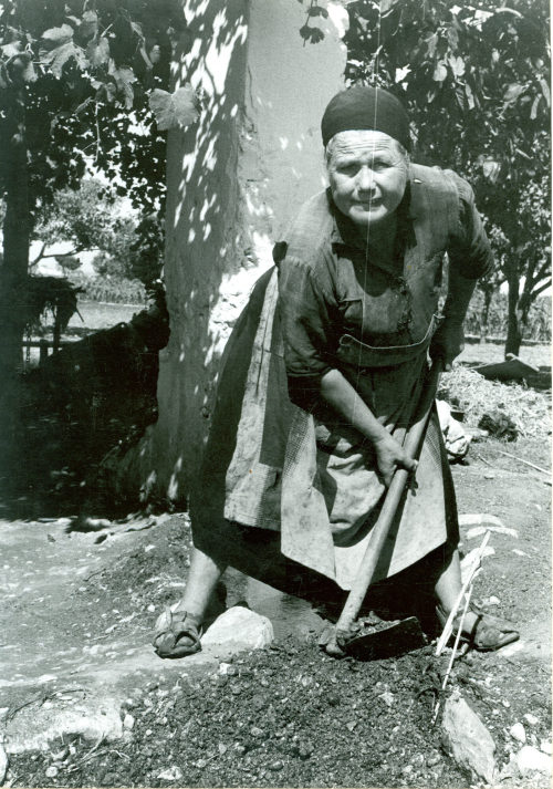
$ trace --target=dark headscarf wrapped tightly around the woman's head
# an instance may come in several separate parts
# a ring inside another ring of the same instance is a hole
[[[331,98],[321,122],[323,145],[338,132],[384,132],[410,149],[409,118],[398,98],[383,87],[355,85]]]

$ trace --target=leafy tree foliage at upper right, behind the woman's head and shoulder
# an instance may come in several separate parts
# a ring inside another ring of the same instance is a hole
[[[417,159],[466,176],[504,241],[505,353],[518,353],[530,305],[551,284],[549,3],[354,0],[347,10],[348,80],[401,98]]]

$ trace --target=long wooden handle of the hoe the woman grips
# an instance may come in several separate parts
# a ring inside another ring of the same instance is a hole
[[[419,447],[422,444],[442,366],[442,361],[437,359],[434,362],[428,373],[427,381],[422,387],[420,401],[417,404],[416,421],[409,428],[404,443],[404,449],[410,457],[415,457],[417,455]],[[407,471],[404,468],[398,468],[394,473],[380,515],[378,516],[378,520],[373,529],[373,537],[367,546],[367,550],[353,583],[352,590],[345,602],[344,610],[342,611],[342,614],[336,623],[335,632],[337,641],[340,641],[341,636],[347,636],[352,623],[359,613],[359,609],[373,580],[378,559],[396,515],[397,507],[404,494],[409,474],[410,471]]]

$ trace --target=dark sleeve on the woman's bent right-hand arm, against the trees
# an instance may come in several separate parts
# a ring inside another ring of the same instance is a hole
[[[453,176],[459,194],[459,219],[450,239],[448,257],[461,277],[476,280],[493,271],[493,252],[474,205],[471,186],[451,170],[449,174]]]

